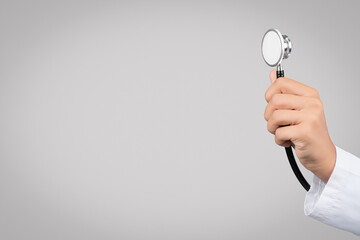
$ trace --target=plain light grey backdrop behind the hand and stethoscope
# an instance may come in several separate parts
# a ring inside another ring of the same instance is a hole
[[[355,239],[303,214],[260,43],[360,155],[358,1],[0,2],[1,239]],[[306,174],[309,180],[311,175]]]

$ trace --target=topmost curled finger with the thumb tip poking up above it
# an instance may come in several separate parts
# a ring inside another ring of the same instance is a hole
[[[306,96],[306,97],[315,97],[315,98],[319,97],[318,92],[314,88],[308,87],[304,84],[301,84],[289,78],[276,79],[276,76],[274,74],[276,74],[276,72],[274,71],[270,73],[270,79],[271,80],[275,79],[275,80],[273,81],[273,83],[265,93],[265,99],[267,102],[269,102],[270,99],[275,94],[279,94],[279,93],[293,94],[293,95]]]

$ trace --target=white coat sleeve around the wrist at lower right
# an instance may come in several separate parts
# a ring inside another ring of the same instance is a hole
[[[360,235],[360,159],[336,147],[335,168],[327,184],[314,175],[304,212],[330,226]]]

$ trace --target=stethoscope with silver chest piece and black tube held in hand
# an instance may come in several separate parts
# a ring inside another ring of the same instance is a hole
[[[279,30],[269,29],[264,34],[261,43],[262,56],[267,65],[269,65],[270,67],[276,67],[276,78],[285,76],[281,62],[283,59],[287,59],[289,57],[291,49],[292,44],[290,39],[286,35],[281,35]],[[296,178],[299,180],[305,190],[309,191],[310,185],[302,175],[295,161],[291,146],[286,147],[285,151]]]

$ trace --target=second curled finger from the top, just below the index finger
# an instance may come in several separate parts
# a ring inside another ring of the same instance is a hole
[[[316,100],[314,98],[309,99],[309,97],[291,94],[275,94],[266,105],[264,118],[269,120],[271,114],[278,109],[300,111],[312,101]]]

